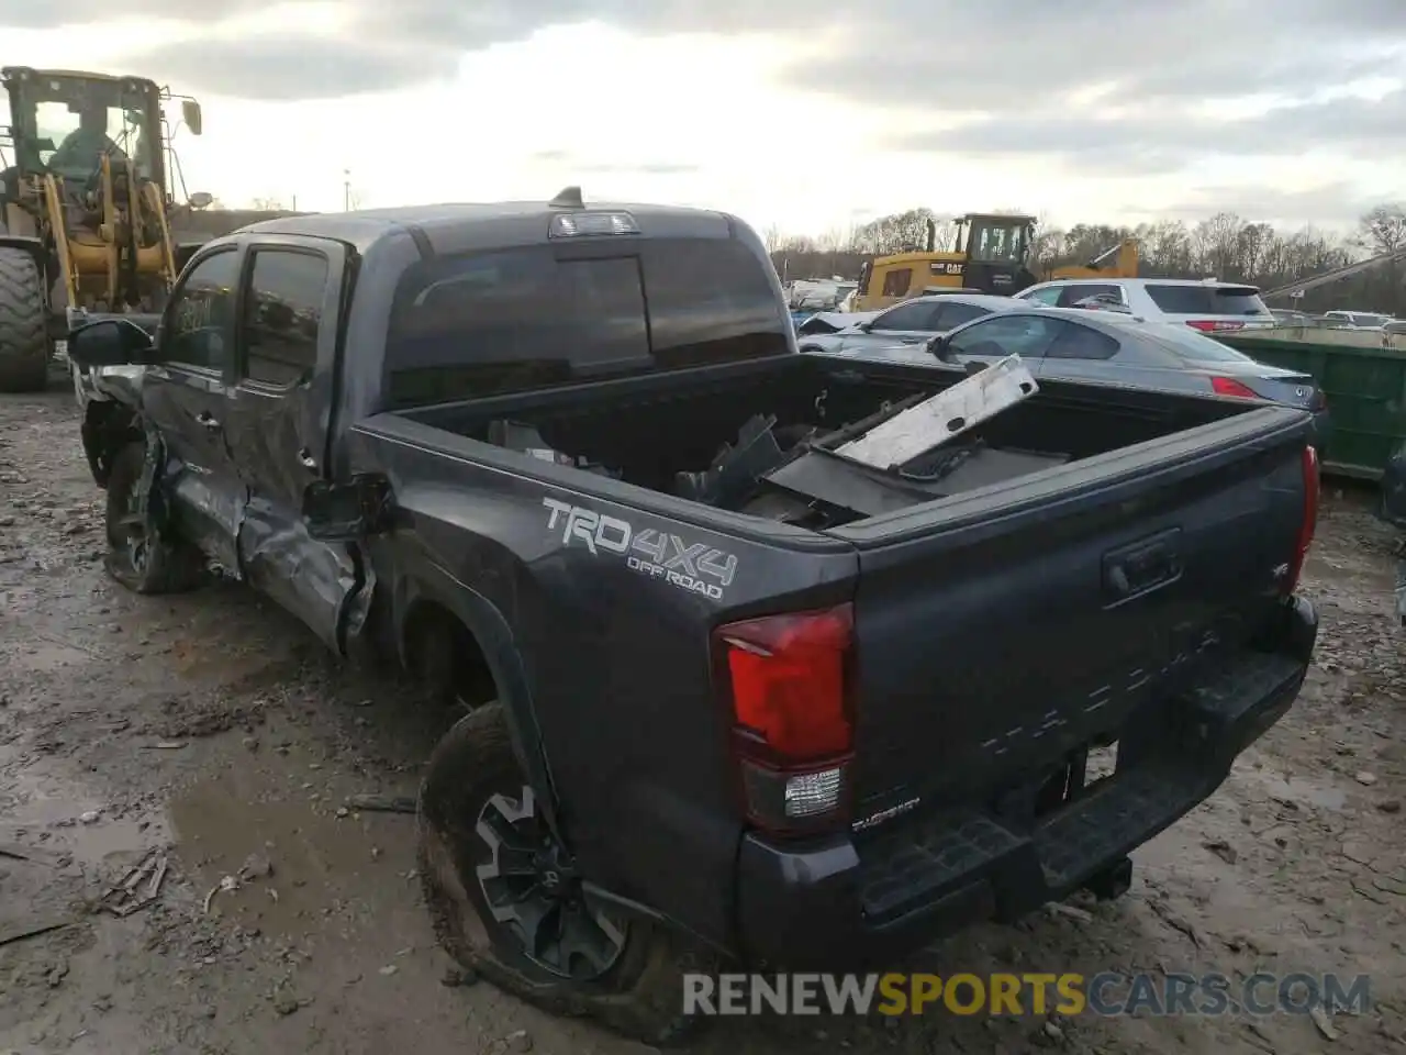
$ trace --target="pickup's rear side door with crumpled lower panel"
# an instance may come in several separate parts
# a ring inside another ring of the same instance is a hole
[[[356,567],[346,544],[308,536],[302,494],[326,475],[346,255],[316,238],[249,239],[226,433],[249,495],[245,574],[339,651]]]

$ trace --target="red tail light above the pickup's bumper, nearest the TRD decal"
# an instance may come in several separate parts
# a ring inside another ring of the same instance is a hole
[[[713,632],[749,821],[778,834],[849,812],[853,609],[748,619]]]

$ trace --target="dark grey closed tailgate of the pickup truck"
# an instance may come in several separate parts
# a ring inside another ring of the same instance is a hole
[[[832,532],[860,550],[855,817],[995,792],[1243,639],[1298,543],[1306,436],[1253,411]]]

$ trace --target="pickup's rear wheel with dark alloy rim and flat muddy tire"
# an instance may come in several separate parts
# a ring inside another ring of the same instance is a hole
[[[706,958],[583,889],[523,779],[501,703],[461,719],[430,757],[419,872],[440,944],[501,989],[647,1044],[690,1024],[682,973]]]

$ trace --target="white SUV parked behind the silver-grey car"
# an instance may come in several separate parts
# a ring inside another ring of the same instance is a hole
[[[1015,294],[1054,308],[1104,308],[1146,319],[1184,322],[1204,333],[1268,329],[1272,312],[1254,286],[1194,279],[1060,279]],[[1081,304],[1088,301],[1088,304]]]

